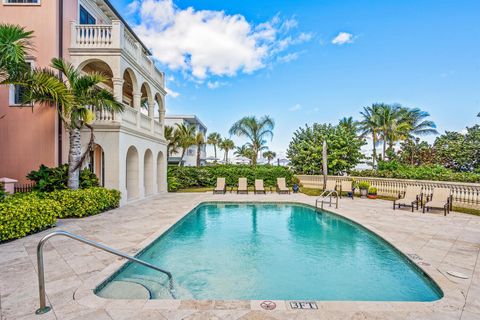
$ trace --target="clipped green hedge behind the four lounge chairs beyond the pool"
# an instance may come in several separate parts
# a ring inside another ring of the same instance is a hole
[[[205,167],[168,167],[168,190],[192,187],[213,187],[217,177],[224,177],[227,186],[236,186],[238,178],[245,177],[253,186],[255,179],[263,179],[266,187],[275,186],[277,178],[284,177],[290,185],[293,172],[287,167],[271,165],[215,165]]]

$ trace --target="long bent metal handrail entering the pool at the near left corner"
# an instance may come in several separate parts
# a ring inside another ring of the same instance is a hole
[[[130,261],[139,263],[141,265],[144,265],[145,267],[148,267],[150,269],[154,269],[156,271],[159,271],[161,273],[164,273],[168,277],[169,281],[169,286],[170,286],[170,294],[172,295],[173,298],[175,298],[175,288],[173,287],[173,276],[169,271],[163,270],[159,267],[154,266],[153,264],[150,264],[148,262],[145,262],[143,260],[137,259],[135,257],[129,256],[123,252],[117,251],[115,249],[112,249],[110,247],[104,246],[103,244],[85,239],[83,237],[80,237],[78,235],[75,235],[73,233],[63,231],[63,230],[58,230],[54,231],[52,233],[47,234],[45,237],[40,240],[37,246],[37,264],[38,264],[38,291],[39,291],[39,297],[40,297],[40,308],[35,311],[36,314],[43,314],[47,313],[48,311],[51,310],[50,306],[47,306],[46,303],[46,295],[45,295],[45,272],[44,272],[44,267],[43,267],[43,246],[47,242],[48,239],[55,237],[55,236],[65,236],[77,241],[80,241],[82,243],[88,244],[89,246],[95,247],[97,249],[109,252],[111,254],[114,254],[116,256],[128,259]]]

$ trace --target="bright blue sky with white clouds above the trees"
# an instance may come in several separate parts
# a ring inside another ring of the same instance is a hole
[[[168,112],[209,132],[268,114],[280,152],[299,126],[374,102],[426,110],[441,132],[479,122],[477,0],[111,1],[166,72]]]

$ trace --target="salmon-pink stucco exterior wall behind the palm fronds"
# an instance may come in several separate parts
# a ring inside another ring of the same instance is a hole
[[[33,64],[45,67],[58,55],[58,1],[41,5],[5,5],[0,2],[0,21],[34,30]],[[40,164],[57,165],[56,110],[51,106],[10,107],[9,88],[0,87],[0,177],[26,182],[25,174]]]

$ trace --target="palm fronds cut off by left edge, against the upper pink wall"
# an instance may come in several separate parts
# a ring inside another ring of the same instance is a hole
[[[0,24],[0,83],[14,80],[28,70],[25,56],[32,50],[33,31]]]

